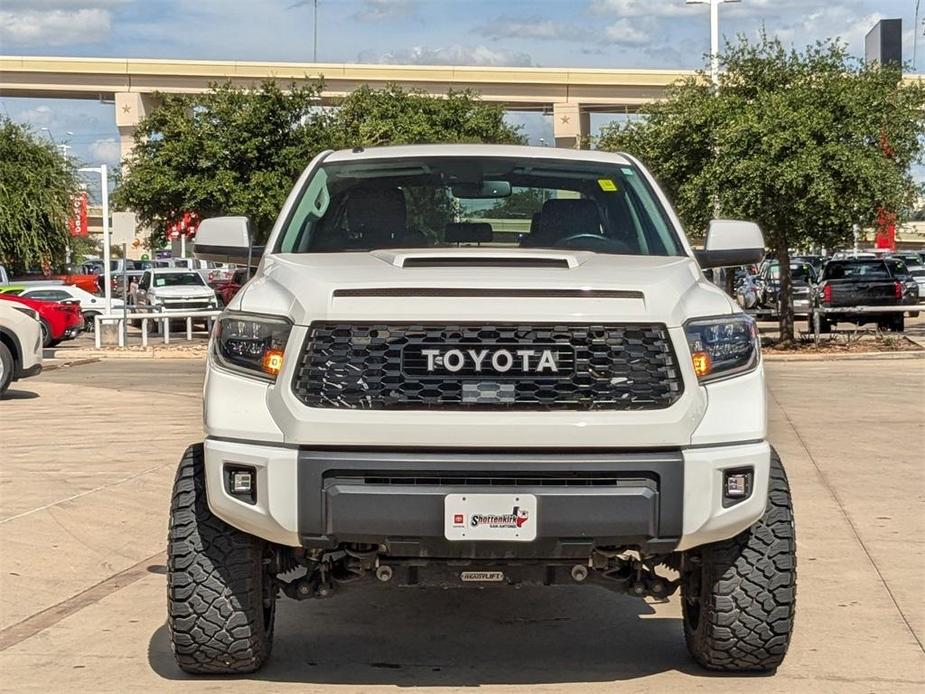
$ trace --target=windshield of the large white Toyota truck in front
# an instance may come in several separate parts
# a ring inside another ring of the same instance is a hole
[[[503,157],[324,164],[301,191],[276,250],[474,246],[684,254],[635,167]]]

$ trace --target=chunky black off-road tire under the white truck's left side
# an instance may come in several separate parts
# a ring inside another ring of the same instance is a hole
[[[267,544],[217,518],[206,500],[202,444],[174,481],[167,548],[167,625],[191,673],[254,672],[273,645],[276,581]]]

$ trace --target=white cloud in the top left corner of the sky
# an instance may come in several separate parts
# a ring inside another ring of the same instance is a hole
[[[102,41],[112,29],[110,8],[116,4],[88,0],[5,1],[0,10],[0,43],[66,46]]]

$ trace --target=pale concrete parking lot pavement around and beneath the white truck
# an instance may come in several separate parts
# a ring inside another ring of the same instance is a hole
[[[176,462],[200,436],[202,363],[48,371],[0,401],[0,688],[921,691],[923,364],[768,363],[770,438],[795,496],[798,611],[784,666],[747,679],[694,666],[677,598],[377,585],[283,602],[264,670],[190,679],[164,625],[163,550]]]

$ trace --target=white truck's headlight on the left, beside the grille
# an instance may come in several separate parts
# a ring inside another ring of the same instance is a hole
[[[228,312],[215,324],[213,354],[227,369],[275,381],[291,330],[285,318]]]

